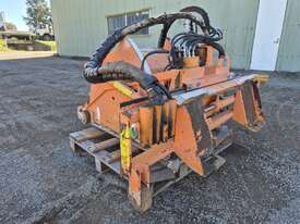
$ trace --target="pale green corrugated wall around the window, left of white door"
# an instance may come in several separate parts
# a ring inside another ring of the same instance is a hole
[[[224,46],[232,66],[250,65],[259,0],[51,0],[58,51],[62,55],[91,55],[106,38],[106,16],[149,9],[151,16],[177,12],[188,5],[206,9],[214,26],[224,30]],[[134,36],[137,45],[156,46],[159,28]]]

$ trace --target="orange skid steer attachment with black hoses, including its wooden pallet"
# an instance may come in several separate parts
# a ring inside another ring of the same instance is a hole
[[[167,38],[180,20],[189,30]],[[153,50],[127,38],[155,25],[163,29]],[[141,212],[190,172],[207,177],[225,164],[219,153],[232,144],[229,121],[253,132],[264,124],[259,87],[267,76],[230,73],[221,38],[207,13],[190,7],[117,30],[85,64],[92,86],[77,114],[93,127],[70,134],[72,149],[94,155],[98,171],[128,179]]]

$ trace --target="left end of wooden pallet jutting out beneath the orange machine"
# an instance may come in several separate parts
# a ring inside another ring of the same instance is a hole
[[[121,153],[118,138],[96,127],[71,133],[69,137],[72,151],[93,155],[98,172],[103,173],[109,167],[121,175]]]

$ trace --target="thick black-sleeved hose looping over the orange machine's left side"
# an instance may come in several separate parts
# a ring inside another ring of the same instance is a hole
[[[140,84],[140,86],[143,89],[145,89],[148,92],[148,96],[151,99],[155,99],[154,101],[156,103],[157,102],[161,103],[164,101],[163,96],[167,96],[167,98],[171,98],[169,91],[166,89],[165,86],[159,84],[159,82],[155,76],[146,74],[143,71],[139,70],[137,67],[124,62],[113,62],[113,63],[107,63],[104,65],[103,65],[103,62],[106,55],[111,51],[111,49],[119,41],[121,41],[125,36],[134,34],[145,27],[149,27],[158,24],[164,25],[165,32],[167,35],[168,29],[170,28],[172,23],[176,20],[181,20],[181,18],[190,20],[195,25],[204,28],[203,23],[197,21],[190,13],[165,14],[158,17],[151,17],[151,18],[143,20],[130,26],[125,26],[115,32],[111,36],[109,36],[103,42],[103,45],[96,50],[96,52],[92,55],[91,60],[85,64],[84,77],[86,78],[87,82],[93,84],[105,83],[109,80],[135,80]],[[178,39],[176,41],[178,41]],[[161,41],[161,42],[165,43],[165,41]],[[213,47],[215,46],[215,48],[219,50],[223,49],[219,45],[214,43],[212,40],[206,41],[207,45],[209,45],[209,42],[211,42],[211,46]]]

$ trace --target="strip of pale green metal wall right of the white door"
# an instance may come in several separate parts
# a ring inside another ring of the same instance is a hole
[[[288,0],[277,71],[300,71],[300,1]]]

